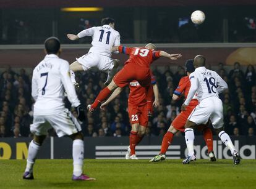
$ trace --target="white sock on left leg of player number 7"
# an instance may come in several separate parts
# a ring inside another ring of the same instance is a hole
[[[36,144],[34,140],[30,142],[28,147],[28,158],[25,172],[33,172],[33,165],[35,164],[36,155],[40,149],[40,145]]]

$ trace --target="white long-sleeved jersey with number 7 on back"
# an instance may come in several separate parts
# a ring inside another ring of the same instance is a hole
[[[53,115],[63,111],[64,90],[72,107],[80,105],[70,79],[69,63],[57,55],[46,55],[33,70],[34,115]]]

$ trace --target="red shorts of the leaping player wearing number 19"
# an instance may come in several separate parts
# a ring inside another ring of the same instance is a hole
[[[137,80],[141,86],[147,87],[151,83],[150,69],[127,63],[124,68],[114,76],[114,82],[118,87],[125,87],[129,82]]]

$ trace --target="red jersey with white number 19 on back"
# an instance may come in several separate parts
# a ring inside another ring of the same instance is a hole
[[[118,51],[130,55],[124,63],[134,63],[137,66],[149,68],[150,64],[160,58],[160,50],[146,49],[144,47],[124,47],[119,46]]]

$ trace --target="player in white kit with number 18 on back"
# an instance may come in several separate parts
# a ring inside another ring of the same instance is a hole
[[[195,71],[190,74],[189,79],[191,87],[187,99],[182,105],[181,110],[186,110],[190,100],[197,92],[199,104],[190,114],[185,125],[185,139],[188,156],[184,159],[183,164],[189,164],[194,155],[194,130],[195,126],[206,124],[210,119],[216,134],[220,137],[221,141],[226,145],[231,154],[233,155],[234,164],[239,164],[241,158],[238,151],[226,132],[223,131],[223,105],[219,99],[219,94],[225,89],[228,89],[228,84],[216,73],[215,71],[205,68],[205,57],[197,55],[194,58]]]

